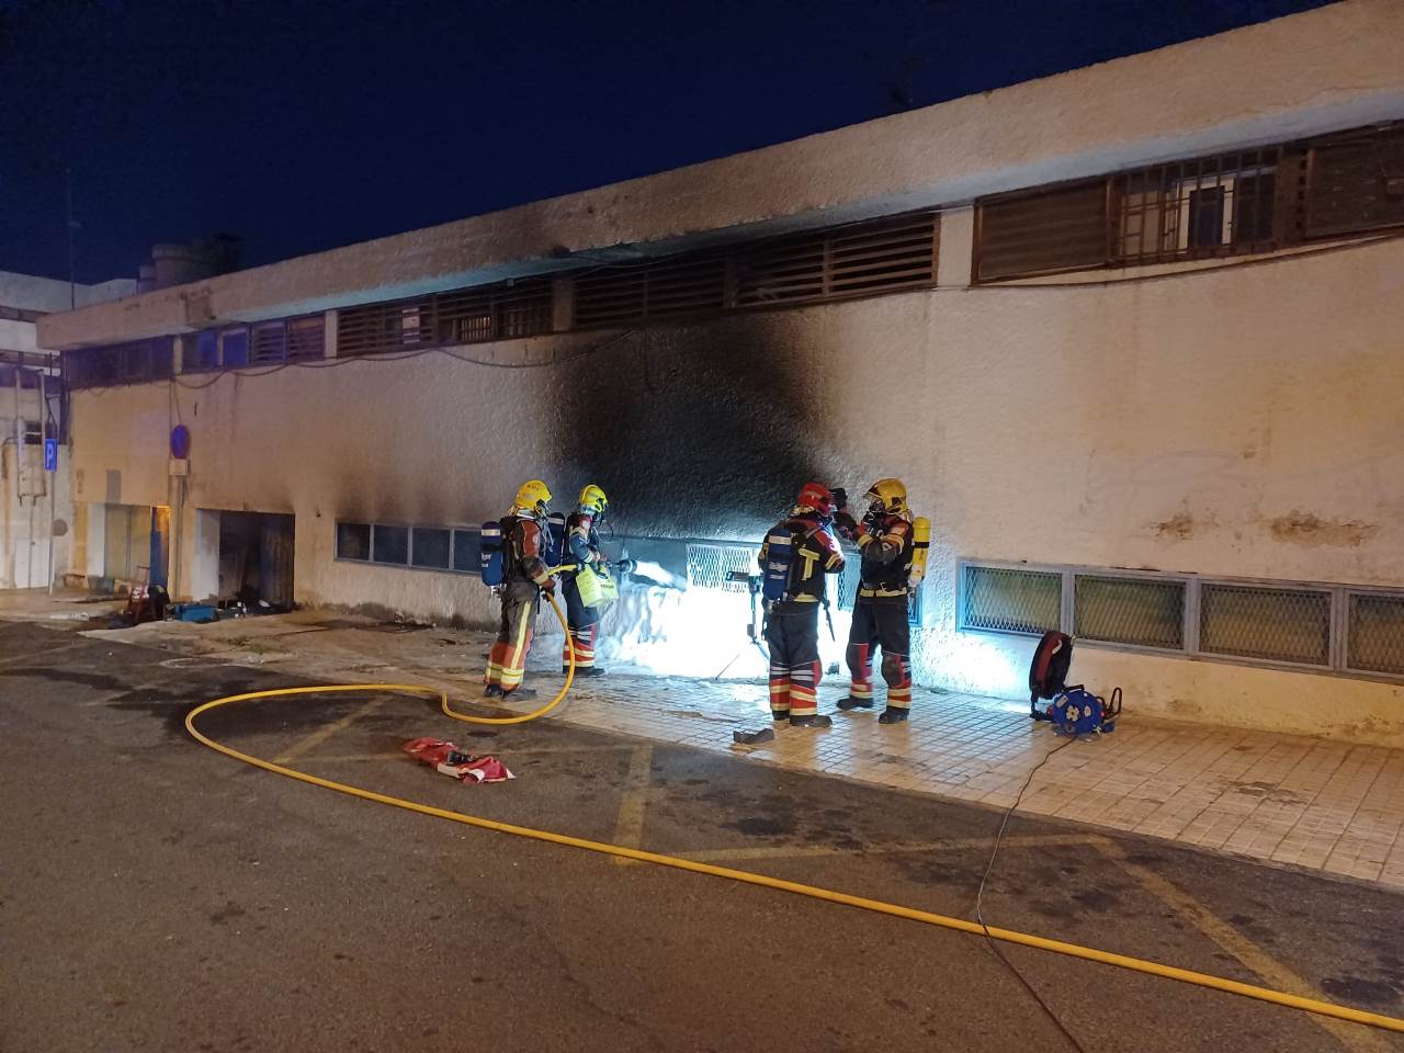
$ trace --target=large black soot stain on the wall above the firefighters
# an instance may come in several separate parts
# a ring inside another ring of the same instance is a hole
[[[775,317],[644,330],[555,378],[562,487],[609,493],[632,535],[747,538],[834,468],[824,368]],[[557,496],[573,503],[574,490]]]

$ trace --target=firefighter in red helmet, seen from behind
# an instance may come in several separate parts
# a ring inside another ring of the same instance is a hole
[[[768,611],[765,642],[771,650],[771,717],[793,727],[828,727],[820,716],[817,689],[823,675],[819,660],[819,609],[827,602],[826,574],[844,569],[844,556],[833,535],[834,494],[820,483],[806,483],[790,514],[781,519],[761,546],[761,567],[771,553],[769,538],[789,534],[790,562],[785,594]]]

